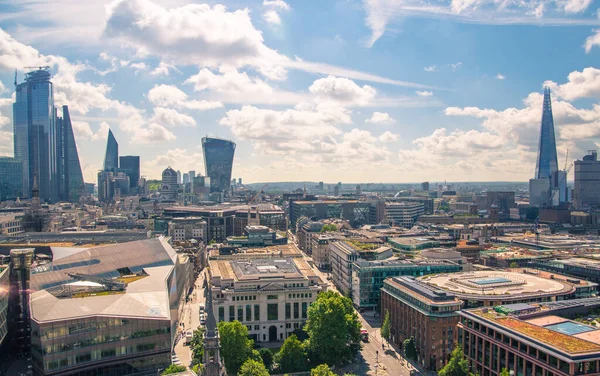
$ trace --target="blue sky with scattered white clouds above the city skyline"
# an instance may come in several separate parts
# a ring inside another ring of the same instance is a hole
[[[526,181],[544,87],[559,166],[600,147],[600,0],[4,0],[0,155],[42,65],[86,182],[109,128],[148,178],[209,135],[248,183]]]

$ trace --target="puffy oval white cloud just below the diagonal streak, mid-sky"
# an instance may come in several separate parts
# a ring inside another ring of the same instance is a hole
[[[365,105],[377,93],[369,85],[360,87],[350,79],[334,76],[316,80],[308,90],[323,101],[339,102],[346,105]]]

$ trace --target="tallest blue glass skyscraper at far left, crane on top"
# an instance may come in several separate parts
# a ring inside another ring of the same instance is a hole
[[[58,201],[56,111],[47,69],[25,73],[25,82],[17,85],[13,132],[14,156],[23,165],[23,193],[29,196],[36,174],[40,198]]]

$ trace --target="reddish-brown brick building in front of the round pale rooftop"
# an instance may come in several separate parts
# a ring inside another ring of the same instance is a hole
[[[387,278],[381,289],[382,316],[390,315],[390,342],[402,346],[414,337],[417,362],[429,371],[448,362],[461,305],[454,294],[413,277]]]

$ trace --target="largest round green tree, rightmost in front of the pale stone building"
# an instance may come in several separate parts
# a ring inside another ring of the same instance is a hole
[[[308,308],[304,327],[311,362],[336,365],[351,360],[361,347],[360,328],[349,298],[333,291],[320,293]]]

